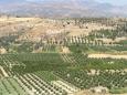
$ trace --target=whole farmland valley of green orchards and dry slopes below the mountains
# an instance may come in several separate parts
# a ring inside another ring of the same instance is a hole
[[[0,95],[127,94],[127,20],[0,18]]]

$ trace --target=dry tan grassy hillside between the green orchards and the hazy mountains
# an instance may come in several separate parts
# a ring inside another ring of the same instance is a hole
[[[40,38],[44,34],[50,33],[61,33],[64,30],[68,33],[68,36],[77,36],[81,34],[88,35],[93,30],[100,29],[114,29],[112,27],[102,25],[100,23],[87,23],[84,24],[83,29],[75,25],[74,23],[63,27],[62,21],[54,21],[51,19],[40,19],[40,18],[0,18],[0,35],[6,35],[9,32],[17,32],[18,28],[33,28],[32,30],[28,30],[20,40],[30,40],[35,41],[40,40]],[[87,29],[86,29],[87,27]],[[4,31],[4,32],[3,32]]]

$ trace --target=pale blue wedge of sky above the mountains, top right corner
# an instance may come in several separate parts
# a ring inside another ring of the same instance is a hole
[[[108,2],[115,6],[125,6],[127,4],[127,0],[96,0],[98,2]]]

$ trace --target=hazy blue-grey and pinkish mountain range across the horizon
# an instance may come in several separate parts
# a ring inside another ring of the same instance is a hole
[[[6,0],[0,13],[20,17],[127,17],[127,7],[99,3],[95,0]]]

